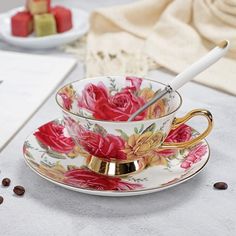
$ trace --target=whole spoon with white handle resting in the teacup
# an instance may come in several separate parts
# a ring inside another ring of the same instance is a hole
[[[154,98],[145,103],[142,107],[140,107],[136,112],[134,112],[128,121],[132,121],[137,115],[146,110],[149,106],[154,104],[157,100],[161,99],[167,93],[171,93],[173,91],[178,90],[183,85],[185,85],[188,81],[194,78],[196,75],[200,74],[202,71],[207,69],[209,66],[217,62],[221,57],[223,57],[229,49],[229,41],[224,40],[219,43],[218,46],[213,48],[209,53],[207,53],[204,57],[200,58],[198,61],[193,63],[183,72],[178,74],[168,85],[166,85],[160,92],[158,92]]]

